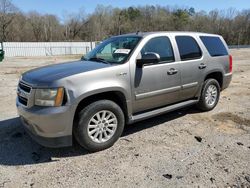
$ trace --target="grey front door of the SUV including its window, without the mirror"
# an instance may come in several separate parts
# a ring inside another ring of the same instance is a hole
[[[135,67],[133,112],[163,107],[180,100],[181,74],[175,62],[170,39],[159,36],[150,39],[141,49],[139,56],[156,53],[160,56],[157,63]]]

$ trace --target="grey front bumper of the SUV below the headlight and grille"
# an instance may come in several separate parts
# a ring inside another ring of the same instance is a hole
[[[16,101],[21,122],[29,135],[45,147],[72,145],[73,107],[26,108]]]

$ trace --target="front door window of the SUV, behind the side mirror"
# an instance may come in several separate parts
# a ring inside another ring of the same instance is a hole
[[[155,37],[150,39],[141,50],[141,55],[148,52],[159,54],[160,62],[173,62],[174,53],[168,37]]]

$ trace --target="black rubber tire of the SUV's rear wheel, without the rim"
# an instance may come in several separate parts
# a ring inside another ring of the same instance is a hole
[[[206,92],[208,90],[208,88],[213,85],[216,87],[217,89],[217,96],[216,96],[216,99],[215,99],[215,102],[211,105],[209,105],[207,102],[206,102]],[[210,111],[212,109],[214,109],[214,107],[217,105],[218,101],[219,101],[219,98],[220,98],[220,85],[218,83],[217,80],[215,79],[207,79],[204,84],[203,84],[203,88],[201,90],[201,96],[200,96],[200,100],[199,102],[197,103],[196,107],[199,108],[200,110],[202,111]]]

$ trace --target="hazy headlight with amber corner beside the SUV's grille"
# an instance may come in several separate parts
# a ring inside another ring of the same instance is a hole
[[[64,89],[36,89],[35,105],[37,106],[61,106]]]

